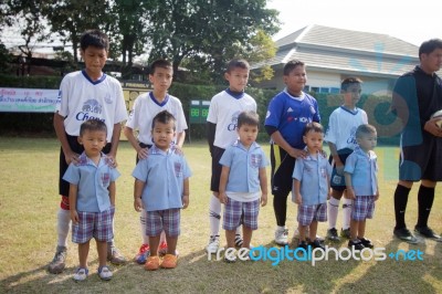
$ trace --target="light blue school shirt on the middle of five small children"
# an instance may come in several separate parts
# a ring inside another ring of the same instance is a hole
[[[225,149],[220,165],[230,168],[227,191],[259,192],[260,168],[269,166],[269,160],[257,143],[254,141],[248,150],[236,140]]]

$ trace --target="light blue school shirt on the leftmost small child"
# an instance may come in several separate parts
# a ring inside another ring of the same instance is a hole
[[[108,164],[108,158],[102,153],[102,158],[95,162],[83,153],[77,164],[67,167],[63,179],[78,186],[76,210],[102,212],[110,208],[109,183],[119,177],[119,172]]]

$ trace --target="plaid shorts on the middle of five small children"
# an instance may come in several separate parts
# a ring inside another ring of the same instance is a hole
[[[260,199],[242,202],[228,197],[228,202],[224,204],[222,228],[227,231],[234,231],[243,224],[251,230],[256,230],[259,212]]]

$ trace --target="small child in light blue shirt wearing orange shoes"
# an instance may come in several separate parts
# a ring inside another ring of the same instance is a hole
[[[152,119],[154,146],[147,158],[138,161],[135,177],[134,208],[146,210],[146,234],[150,242],[150,256],[147,271],[175,269],[176,248],[180,234],[180,210],[189,204],[190,169],[182,154],[171,148],[176,135],[176,118],[167,111],[158,113]],[[166,232],[167,254],[158,258],[161,231]]]

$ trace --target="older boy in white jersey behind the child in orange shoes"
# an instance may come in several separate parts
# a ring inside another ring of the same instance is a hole
[[[166,60],[157,60],[150,65],[149,81],[154,91],[139,95],[126,122],[124,133],[130,145],[137,151],[136,162],[147,158],[149,148],[152,146],[151,125],[152,118],[162,111],[168,111],[176,117],[176,137],[172,143],[175,148],[182,148],[186,138],[187,123],[181,102],[167,93],[173,76],[172,64]],[[138,138],[134,135],[138,129]],[[146,235],[146,210],[141,210],[139,217],[141,227],[143,244],[135,256],[135,261],[144,264],[150,254],[149,238]],[[167,242],[162,235],[160,253],[167,251]]]

